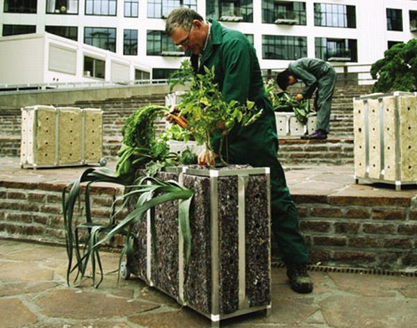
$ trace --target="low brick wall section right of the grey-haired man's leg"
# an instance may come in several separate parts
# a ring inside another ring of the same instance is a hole
[[[416,199],[295,195],[313,263],[417,267]]]

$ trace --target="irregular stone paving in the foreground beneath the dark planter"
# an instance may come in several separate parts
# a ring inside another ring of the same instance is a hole
[[[38,254],[38,256],[36,256]],[[103,283],[67,286],[64,247],[0,239],[0,327],[211,327],[193,310],[133,277],[117,284],[118,254],[101,252]],[[225,320],[221,327],[411,328],[417,278],[310,272],[313,293],[294,293],[284,268],[272,268],[272,311]]]

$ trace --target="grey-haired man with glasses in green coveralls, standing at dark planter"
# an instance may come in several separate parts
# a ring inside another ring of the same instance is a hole
[[[235,126],[229,133],[229,163],[270,167],[272,232],[283,253],[291,288],[298,293],[310,293],[313,284],[306,271],[309,249],[300,233],[295,204],[277,159],[275,114],[263,88],[254,47],[243,33],[224,28],[215,20],[206,22],[189,8],[172,10],[165,31],[174,44],[192,53],[190,59],[195,72],[204,74],[204,66],[215,67],[215,83],[227,101],[245,103],[249,99],[257,108],[263,108],[263,114],[254,124]],[[215,136],[212,140],[215,151],[219,149],[219,138]],[[211,163],[214,157],[215,154],[210,154],[206,158],[203,151],[199,154],[199,165]]]

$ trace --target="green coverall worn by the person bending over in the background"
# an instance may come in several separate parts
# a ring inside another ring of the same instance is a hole
[[[301,92],[305,99],[311,98],[317,88],[314,100],[317,110],[316,130],[329,133],[336,71],[329,63],[316,58],[300,58],[288,65],[288,69],[295,79],[303,81],[306,85]]]

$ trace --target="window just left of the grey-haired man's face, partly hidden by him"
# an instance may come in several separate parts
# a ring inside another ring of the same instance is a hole
[[[163,31],[147,31],[146,44],[148,56],[184,56],[183,49]]]

